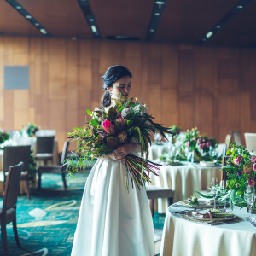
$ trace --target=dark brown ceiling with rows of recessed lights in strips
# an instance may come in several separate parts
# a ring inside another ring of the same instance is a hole
[[[256,0],[1,0],[0,36],[254,47],[255,14]]]

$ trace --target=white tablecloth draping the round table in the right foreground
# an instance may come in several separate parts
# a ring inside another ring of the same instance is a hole
[[[168,207],[160,256],[256,255],[256,227],[244,219],[248,216],[245,208],[234,207],[240,222],[220,225],[192,222],[174,213],[184,209]]]

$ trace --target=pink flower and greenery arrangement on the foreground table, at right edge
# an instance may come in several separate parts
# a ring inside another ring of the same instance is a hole
[[[230,155],[230,158],[223,170],[227,173],[230,207],[232,208],[233,204],[247,207],[245,191],[247,186],[255,189],[256,156],[251,155],[243,146],[232,142],[230,142],[227,155]],[[253,208],[256,208],[256,200],[253,203]]]

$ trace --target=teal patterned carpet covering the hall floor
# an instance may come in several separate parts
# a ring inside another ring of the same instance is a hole
[[[20,195],[17,204],[17,224],[22,249],[16,246],[12,224],[7,225],[10,255],[70,255],[73,234],[79,215],[84,183],[89,172],[79,172],[67,178],[64,191],[61,175],[43,174],[42,189],[32,191],[32,199]],[[3,198],[0,199],[0,207]],[[154,228],[162,229],[164,214],[154,214]],[[2,240],[0,255],[3,255]]]

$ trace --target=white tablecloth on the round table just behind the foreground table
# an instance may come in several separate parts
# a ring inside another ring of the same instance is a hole
[[[195,191],[207,190],[212,177],[221,178],[220,166],[161,166],[159,176],[151,175],[152,185],[174,190],[173,202],[187,199]],[[166,212],[165,199],[158,199],[158,212]]]

